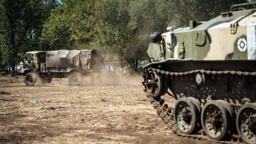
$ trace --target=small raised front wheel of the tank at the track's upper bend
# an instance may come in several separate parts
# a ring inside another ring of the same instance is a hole
[[[147,72],[145,76],[145,88],[147,94],[152,97],[159,97],[166,94],[168,83],[157,72]]]

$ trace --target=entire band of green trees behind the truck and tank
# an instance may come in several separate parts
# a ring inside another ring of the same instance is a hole
[[[254,1],[254,0],[250,0]],[[15,65],[26,51],[104,49],[106,61],[136,71],[147,58],[149,35],[168,25],[207,21],[247,0],[2,0],[0,66]]]

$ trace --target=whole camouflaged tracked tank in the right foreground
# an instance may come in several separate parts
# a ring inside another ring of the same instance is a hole
[[[143,86],[173,133],[256,143],[255,4],[150,35]]]

